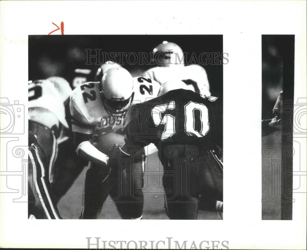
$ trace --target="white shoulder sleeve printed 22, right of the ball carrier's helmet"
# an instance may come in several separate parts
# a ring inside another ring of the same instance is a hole
[[[132,104],[143,103],[158,96],[160,84],[146,77],[133,78],[134,97]]]

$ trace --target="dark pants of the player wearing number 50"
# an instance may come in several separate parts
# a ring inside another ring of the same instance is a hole
[[[195,158],[165,160],[163,186],[170,219],[196,220],[198,197],[206,192],[223,201],[223,164],[212,151]]]

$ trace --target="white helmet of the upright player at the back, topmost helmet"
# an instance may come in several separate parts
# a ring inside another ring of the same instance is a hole
[[[184,54],[181,48],[173,42],[164,41],[153,49],[154,61],[158,66],[170,67],[184,65]]]

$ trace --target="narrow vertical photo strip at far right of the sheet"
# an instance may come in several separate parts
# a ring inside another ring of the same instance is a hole
[[[292,220],[294,35],[262,35],[262,220]]]

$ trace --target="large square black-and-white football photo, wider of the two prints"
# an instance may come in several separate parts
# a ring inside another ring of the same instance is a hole
[[[223,35],[29,36],[29,219],[223,219]]]

